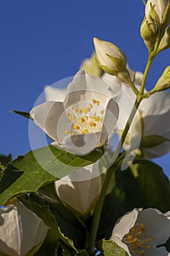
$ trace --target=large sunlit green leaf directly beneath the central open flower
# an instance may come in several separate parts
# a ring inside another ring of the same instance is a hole
[[[45,184],[69,175],[77,168],[90,165],[101,155],[100,151],[93,151],[88,155],[77,157],[54,146],[29,151],[25,156],[18,157],[10,163],[12,171],[14,170],[12,178],[8,173],[9,167],[5,170],[6,176],[0,181],[0,205],[11,197],[35,192]]]

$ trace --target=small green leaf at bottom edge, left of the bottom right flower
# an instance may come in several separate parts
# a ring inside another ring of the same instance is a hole
[[[112,240],[98,241],[97,248],[103,252],[105,256],[128,256],[125,250],[117,246]]]

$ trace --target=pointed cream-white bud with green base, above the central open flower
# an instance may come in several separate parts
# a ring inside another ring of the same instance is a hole
[[[111,42],[94,38],[98,64],[110,75],[117,75],[125,70],[127,60],[125,54]]]

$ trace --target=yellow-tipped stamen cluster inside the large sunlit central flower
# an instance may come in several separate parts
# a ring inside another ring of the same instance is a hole
[[[65,130],[66,135],[101,132],[104,122],[104,109],[96,99],[85,103],[87,104],[72,105],[69,111],[66,112],[66,116],[72,121],[70,130]]]

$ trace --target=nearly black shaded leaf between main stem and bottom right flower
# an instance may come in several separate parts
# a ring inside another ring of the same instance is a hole
[[[115,186],[112,193],[107,195],[104,200],[98,228],[98,240],[109,239],[115,222],[126,212],[135,207],[146,206],[144,195],[129,168],[123,171],[115,170],[115,177],[112,178]]]

